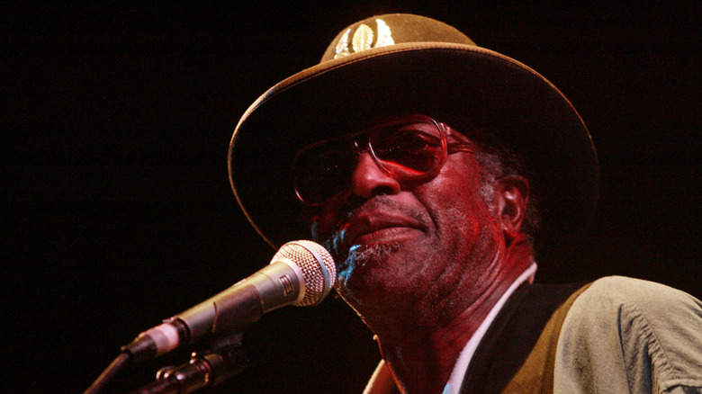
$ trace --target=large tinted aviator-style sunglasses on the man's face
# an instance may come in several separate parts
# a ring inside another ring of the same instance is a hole
[[[449,143],[449,136],[458,143]],[[300,149],[293,159],[295,193],[306,205],[319,205],[344,191],[361,153],[401,182],[422,182],[438,174],[448,153],[472,151],[469,139],[426,116],[389,121],[339,139]]]

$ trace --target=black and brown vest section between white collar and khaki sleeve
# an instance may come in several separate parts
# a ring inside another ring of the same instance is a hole
[[[522,284],[475,350],[461,393],[548,393],[554,355],[572,301],[589,285]]]

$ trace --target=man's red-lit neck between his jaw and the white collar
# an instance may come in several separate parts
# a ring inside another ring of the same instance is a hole
[[[470,287],[459,288],[451,300],[415,308],[412,314],[366,317],[401,390],[441,392],[464,346],[530,263],[531,248],[526,238],[518,238],[496,255],[491,272],[478,281],[471,278]],[[456,306],[457,313],[451,310]]]

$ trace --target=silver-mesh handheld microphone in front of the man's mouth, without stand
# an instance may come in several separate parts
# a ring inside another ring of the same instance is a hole
[[[336,280],[336,265],[327,249],[306,240],[288,242],[278,249],[271,264],[142,332],[121,351],[141,362],[203,337],[234,333],[271,310],[319,304]]]

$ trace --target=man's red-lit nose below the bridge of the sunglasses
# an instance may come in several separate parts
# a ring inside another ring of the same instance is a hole
[[[397,194],[401,185],[378,166],[370,152],[362,152],[354,173],[351,175],[351,184],[354,194],[364,199],[370,199],[381,194]]]

